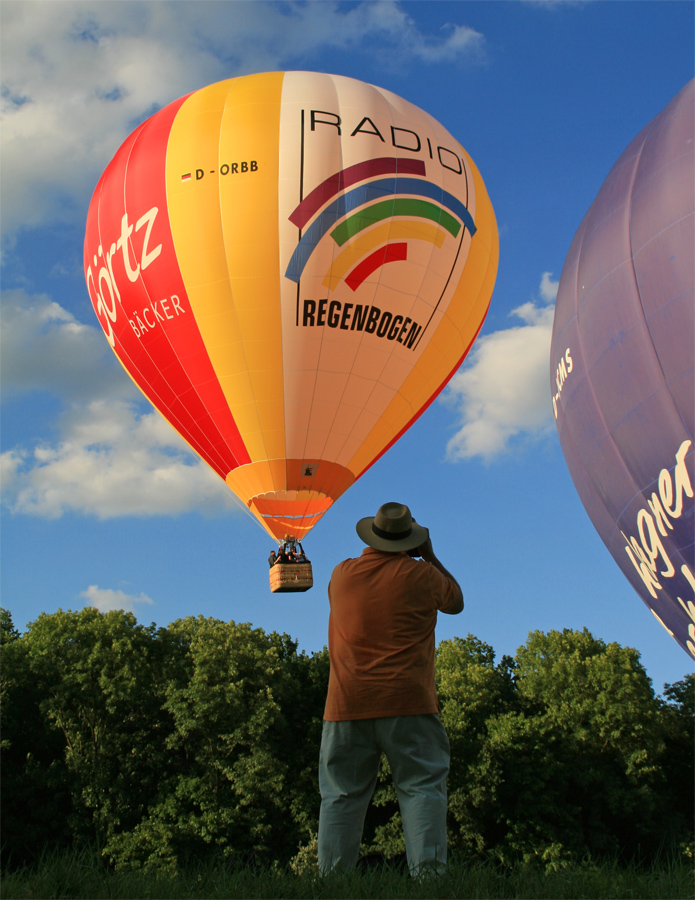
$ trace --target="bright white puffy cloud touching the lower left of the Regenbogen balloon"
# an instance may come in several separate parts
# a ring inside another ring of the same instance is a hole
[[[3,502],[12,512],[110,519],[238,508],[221,479],[157,412],[93,400],[72,406],[59,424],[58,442],[0,457]]]

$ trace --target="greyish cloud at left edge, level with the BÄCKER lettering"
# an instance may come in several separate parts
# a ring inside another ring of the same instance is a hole
[[[3,398],[50,391],[70,398],[134,398],[100,328],[84,325],[45,294],[3,293],[0,308]]]

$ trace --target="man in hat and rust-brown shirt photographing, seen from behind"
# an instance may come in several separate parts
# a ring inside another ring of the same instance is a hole
[[[412,874],[446,868],[449,740],[434,683],[437,612],[463,609],[454,576],[407,506],[360,519],[367,544],[333,571],[330,677],[319,757],[319,869],[354,869],[385,753]],[[421,557],[418,559],[417,557]]]

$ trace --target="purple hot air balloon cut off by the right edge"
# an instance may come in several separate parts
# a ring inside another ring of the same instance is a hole
[[[695,657],[695,81],[611,169],[560,279],[560,443],[591,521]]]

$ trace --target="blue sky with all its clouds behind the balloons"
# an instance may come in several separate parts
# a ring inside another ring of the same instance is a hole
[[[584,512],[550,402],[553,303],[575,231],[632,138],[694,74],[690,2],[14,2],[2,17],[2,603],[202,614],[326,642],[355,522],[410,505],[459,579],[468,632],[512,654],[587,627],[637,648],[660,692],[691,660]],[[82,274],[91,192],[148,115],[279,69],[361,78],[426,109],[486,182],[500,267],[450,387],[305,542],[315,587],[273,596],[271,542],[140,400]]]

